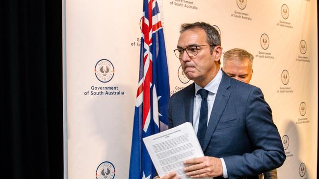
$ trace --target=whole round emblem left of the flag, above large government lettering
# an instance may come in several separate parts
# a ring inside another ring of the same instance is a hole
[[[109,60],[102,59],[96,63],[94,72],[100,82],[106,83],[114,76],[114,66]]]

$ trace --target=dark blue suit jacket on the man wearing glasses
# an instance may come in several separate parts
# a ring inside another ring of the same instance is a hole
[[[173,94],[169,128],[193,121],[195,85]],[[223,157],[228,178],[256,178],[280,167],[286,156],[262,91],[223,72],[207,126],[205,156]]]

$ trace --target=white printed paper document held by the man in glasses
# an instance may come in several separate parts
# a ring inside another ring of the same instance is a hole
[[[194,157],[204,157],[197,136],[189,122],[145,137],[143,141],[160,177],[169,172],[176,172],[181,179],[190,179],[183,170],[186,167],[183,161]]]

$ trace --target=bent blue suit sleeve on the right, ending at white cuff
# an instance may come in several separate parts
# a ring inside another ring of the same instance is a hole
[[[223,157],[229,178],[254,176],[280,167],[286,159],[271,109],[260,89],[254,88],[249,93],[244,116],[252,151]]]

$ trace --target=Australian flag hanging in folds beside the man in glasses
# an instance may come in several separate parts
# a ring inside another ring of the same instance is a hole
[[[160,11],[156,0],[143,0],[139,79],[135,102],[129,179],[153,179],[156,170],[142,138],[167,129],[170,96]]]

